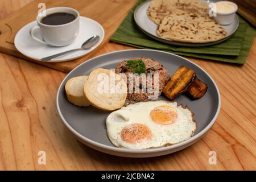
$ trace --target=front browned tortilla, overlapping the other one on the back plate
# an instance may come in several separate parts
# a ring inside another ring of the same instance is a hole
[[[228,32],[209,16],[172,14],[162,20],[157,34],[177,42],[208,43],[225,38]]]

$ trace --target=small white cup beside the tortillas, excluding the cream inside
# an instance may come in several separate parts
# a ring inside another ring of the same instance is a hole
[[[220,12],[217,10],[217,12],[216,12],[217,16],[214,16],[214,19],[216,20],[216,22],[218,22],[221,25],[228,25],[233,22],[238,7],[237,7],[236,3],[233,3],[230,1],[222,1],[222,2],[234,6],[234,10],[229,11],[229,12]]]

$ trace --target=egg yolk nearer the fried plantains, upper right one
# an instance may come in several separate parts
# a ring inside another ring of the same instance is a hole
[[[177,109],[172,106],[161,105],[150,112],[151,119],[162,125],[170,125],[177,119]]]

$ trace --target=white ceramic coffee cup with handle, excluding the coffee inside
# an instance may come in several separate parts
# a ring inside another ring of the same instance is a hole
[[[76,18],[72,22],[66,24],[48,25],[42,23],[42,19],[45,16],[38,15],[36,17],[38,25],[30,29],[30,35],[40,43],[56,47],[67,46],[75,40],[79,32],[79,12],[69,7],[53,7],[46,10],[46,16],[53,13],[68,13],[75,15]],[[36,30],[40,31],[41,38],[35,36]]]

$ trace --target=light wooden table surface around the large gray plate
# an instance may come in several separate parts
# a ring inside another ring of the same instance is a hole
[[[0,18],[30,1],[0,1]],[[130,48],[108,43],[97,55]],[[188,59],[204,68],[220,89],[216,123],[185,150],[129,159],[86,147],[65,129],[55,102],[65,73],[0,53],[0,169],[255,170],[256,41],[243,66]],[[46,151],[45,165],[38,164],[39,151]],[[216,151],[217,164],[209,164],[209,151]]]

